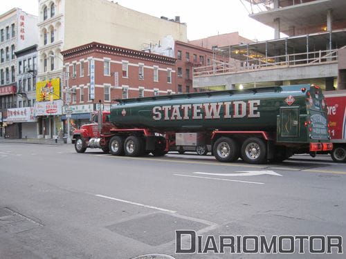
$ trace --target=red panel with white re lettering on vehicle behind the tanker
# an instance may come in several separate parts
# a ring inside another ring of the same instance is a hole
[[[346,95],[327,96],[327,109],[331,139],[346,140]]]

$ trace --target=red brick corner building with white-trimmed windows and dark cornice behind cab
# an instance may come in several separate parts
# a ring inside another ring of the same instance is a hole
[[[69,71],[72,92],[69,105],[73,111],[88,111],[82,106],[90,105],[95,109],[99,100],[107,108],[112,99],[176,93],[176,59],[172,57],[95,42],[65,50],[62,55],[64,68]],[[93,63],[94,83],[90,76]],[[66,100],[66,93],[63,93],[63,99]],[[76,126],[89,118],[89,115],[81,114],[72,115],[72,119],[78,120],[74,122]]]

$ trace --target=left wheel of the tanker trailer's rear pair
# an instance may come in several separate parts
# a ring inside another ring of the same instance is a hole
[[[212,148],[212,153],[220,162],[234,162],[239,158],[239,146],[230,137],[220,137]]]

